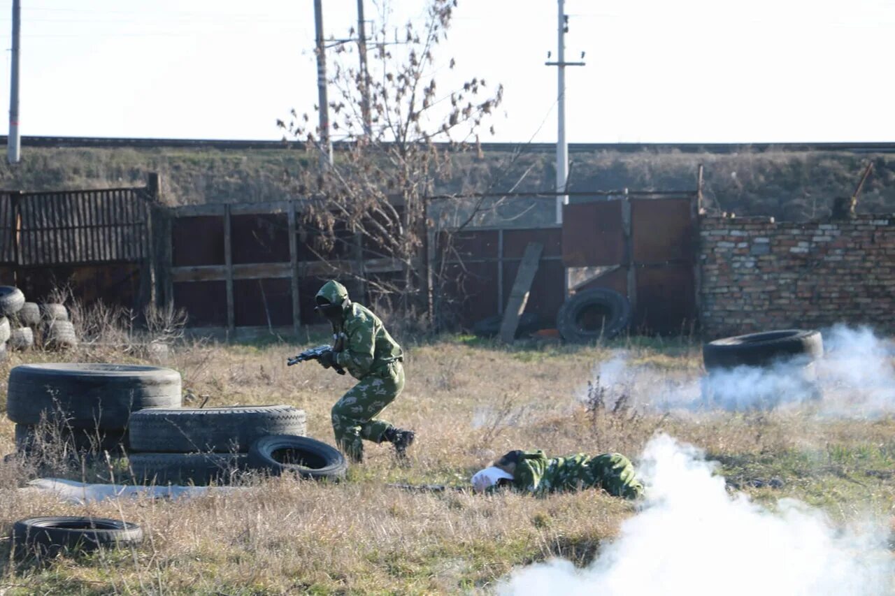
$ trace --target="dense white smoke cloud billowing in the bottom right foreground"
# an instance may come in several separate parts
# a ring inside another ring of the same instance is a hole
[[[823,513],[793,499],[775,510],[730,496],[695,447],[667,435],[642,457],[642,510],[591,566],[565,560],[526,567],[499,593],[648,595],[893,593],[881,527],[838,532]]]

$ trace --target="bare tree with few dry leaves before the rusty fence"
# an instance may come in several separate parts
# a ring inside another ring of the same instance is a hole
[[[388,4],[379,9],[366,76],[346,59],[350,46],[335,51],[331,133],[345,150],[337,152],[332,166],[321,168],[309,159],[293,182],[306,200],[303,225],[316,237],[315,249],[331,263],[333,275],[354,277],[371,294],[388,297],[402,315],[431,314],[433,274],[427,254],[434,247],[427,246],[426,197],[451,175],[452,155],[481,151],[481,131],[499,106],[503,88],[491,92],[485,81],[473,77],[456,89],[439,89],[435,50],[447,37],[456,0],[430,0],[422,21],[407,22],[400,35],[389,28]],[[453,69],[454,59],[447,65]],[[362,108],[366,89],[369,133]],[[278,124],[287,135],[306,140],[308,150],[319,150],[320,130],[307,114],[293,110],[288,123]],[[353,264],[332,259],[336,254],[351,255]],[[364,256],[381,260],[380,273],[356,266]]]

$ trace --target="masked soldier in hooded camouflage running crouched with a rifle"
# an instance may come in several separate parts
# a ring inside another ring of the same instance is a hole
[[[332,409],[333,431],[340,449],[354,462],[363,460],[362,439],[395,446],[404,458],[413,443],[412,430],[401,430],[374,418],[404,388],[401,346],[388,335],[369,309],[348,300],[348,291],[328,281],[316,297],[317,310],[332,324],[333,350],[320,358],[324,368],[337,365],[358,380]]]

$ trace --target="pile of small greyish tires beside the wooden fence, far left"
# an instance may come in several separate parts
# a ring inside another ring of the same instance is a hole
[[[26,302],[13,285],[0,285],[0,360],[9,350],[29,350],[35,343],[47,350],[78,345],[64,304]]]

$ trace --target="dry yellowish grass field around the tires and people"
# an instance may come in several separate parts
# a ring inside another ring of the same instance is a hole
[[[331,443],[329,408],[350,379],[313,362],[286,368],[298,347],[189,342],[161,361],[108,345],[13,354],[0,364],[0,403],[9,370],[22,362],[162,363],[182,373],[184,405],[204,396],[209,405],[292,404],[308,413],[309,435]],[[397,464],[390,447],[371,446],[366,463],[338,484],[249,478],[227,495],[74,506],[20,489],[38,473],[126,480],[126,466],[38,471],[0,464],[0,536],[33,515],[123,517],[147,535],[137,549],[40,563],[13,558],[10,541],[0,540],[0,593],[490,592],[517,566],[557,556],[588,564],[635,515],[636,504],[595,490],[484,497],[411,492],[389,482],[464,485],[492,457],[520,447],[554,455],[612,450],[636,461],[658,431],[703,448],[720,462],[729,490],[769,507],[783,497],[802,499],[833,524],[865,515],[888,519],[895,507],[895,421],[887,415],[827,416],[816,406],[723,413],[651,405],[671,394],[686,404],[702,368],[695,340],[507,348],[446,336],[405,340],[405,349],[405,392],[383,416],[417,431],[409,467]],[[586,407],[580,397],[595,367],[619,353],[625,360],[617,379],[628,380],[605,388],[613,400],[625,395],[623,404],[615,411],[614,402]],[[0,449],[13,451],[13,423],[5,419]],[[771,478],[782,486],[770,488]]]

